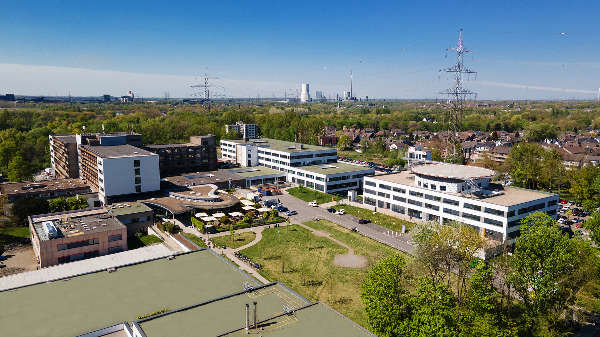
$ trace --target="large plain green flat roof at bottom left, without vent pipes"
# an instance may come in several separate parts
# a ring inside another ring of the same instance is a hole
[[[252,279],[209,250],[0,292],[3,336],[75,336],[239,292]]]

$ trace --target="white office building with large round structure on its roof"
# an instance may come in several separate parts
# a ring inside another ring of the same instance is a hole
[[[365,177],[363,202],[414,220],[459,221],[488,239],[520,235],[520,220],[533,212],[556,218],[558,194],[490,182],[492,170],[455,164],[423,164],[412,172]]]

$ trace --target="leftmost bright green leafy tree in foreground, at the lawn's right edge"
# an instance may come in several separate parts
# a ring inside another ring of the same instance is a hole
[[[367,322],[379,336],[404,336],[402,322],[409,317],[405,266],[400,254],[381,259],[369,269],[361,285]]]

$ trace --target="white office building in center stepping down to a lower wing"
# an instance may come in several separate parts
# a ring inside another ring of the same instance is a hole
[[[375,170],[337,162],[337,150],[274,139],[221,140],[223,159],[286,173],[286,180],[325,193],[362,188]]]

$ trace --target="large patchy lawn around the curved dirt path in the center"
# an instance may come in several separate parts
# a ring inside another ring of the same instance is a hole
[[[310,221],[306,225],[327,231],[354,248],[356,255],[367,257],[369,266],[398,253],[329,221]],[[281,231],[281,242],[278,231]],[[360,285],[367,269],[333,266],[335,254],[347,254],[348,249],[298,225],[265,229],[262,235],[260,242],[241,251],[263,266],[259,271],[262,276],[282,282],[310,301],[327,303],[363,327],[367,326],[360,300]]]

